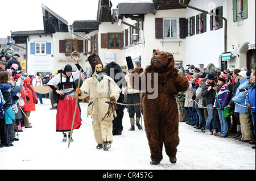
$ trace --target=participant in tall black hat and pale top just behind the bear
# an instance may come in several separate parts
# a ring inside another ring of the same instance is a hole
[[[134,90],[133,87],[131,87],[130,84],[130,75],[131,75],[131,71],[133,71],[134,66],[133,66],[133,61],[131,60],[131,57],[126,57],[126,62],[127,62],[127,66],[129,69],[129,74],[127,74],[125,76],[125,80],[127,82],[127,86],[126,86],[126,100],[125,103],[126,104],[137,104],[140,102],[140,94],[139,94],[139,90]],[[134,116],[136,113],[136,125],[138,127],[139,130],[142,129],[141,124],[139,124],[139,120],[141,119],[141,111],[140,111],[140,106],[128,106],[127,107],[127,111],[129,112],[129,117],[130,117],[130,123],[131,123],[131,128],[129,129],[129,131],[134,131]]]

